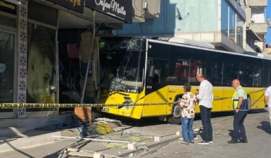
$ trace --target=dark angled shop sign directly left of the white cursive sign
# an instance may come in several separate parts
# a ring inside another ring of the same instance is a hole
[[[61,5],[70,10],[83,13],[84,12],[84,1],[85,0],[47,0],[56,5]]]

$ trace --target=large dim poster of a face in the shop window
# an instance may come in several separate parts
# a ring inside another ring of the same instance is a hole
[[[28,25],[28,103],[56,103],[55,36],[53,29]]]

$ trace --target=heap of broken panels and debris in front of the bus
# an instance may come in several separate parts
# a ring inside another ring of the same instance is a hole
[[[80,137],[53,137],[58,137],[58,141],[76,141],[65,148],[60,157],[126,157],[140,150],[149,150],[150,144],[162,142],[161,136],[125,131],[129,128],[131,126],[125,126],[118,120],[103,118],[89,126],[76,128]]]

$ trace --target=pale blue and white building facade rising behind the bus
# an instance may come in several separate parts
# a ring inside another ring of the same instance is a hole
[[[262,24],[246,23],[248,8],[253,8],[252,5],[259,5],[258,3],[259,1],[256,3],[256,1],[235,0],[162,0],[158,19],[123,25],[123,29],[117,30],[116,34],[149,38],[180,37],[211,43],[216,49],[243,53],[246,51],[248,42],[246,36],[247,34],[250,36],[246,26],[250,25],[257,31],[256,25],[261,25],[262,28],[266,25],[264,19],[261,19]],[[263,5],[263,3],[260,4]],[[263,6],[266,7],[266,1]],[[266,28],[261,32],[263,36]],[[257,36],[255,34],[254,38],[261,38],[259,34]]]

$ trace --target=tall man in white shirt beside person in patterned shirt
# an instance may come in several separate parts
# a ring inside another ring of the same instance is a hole
[[[204,128],[204,137],[199,144],[213,143],[213,128],[210,122],[210,111],[213,108],[213,85],[205,80],[202,74],[197,74],[197,81],[200,82],[199,93],[197,100],[199,100],[200,117],[202,119],[202,126]]]

